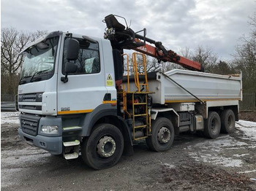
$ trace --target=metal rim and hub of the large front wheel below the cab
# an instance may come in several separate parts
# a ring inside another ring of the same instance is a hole
[[[116,151],[116,141],[110,136],[99,139],[97,153],[100,157],[111,157]]]

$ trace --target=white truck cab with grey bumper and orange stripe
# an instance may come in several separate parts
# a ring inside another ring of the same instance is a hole
[[[79,44],[75,61],[67,60],[71,37]],[[70,149],[65,145],[78,146],[102,117],[117,117],[113,55],[108,40],[55,31],[23,52],[26,58],[18,86],[21,139],[60,155]],[[75,70],[64,82],[65,67],[70,62]],[[78,157],[78,149],[73,153],[65,157]]]

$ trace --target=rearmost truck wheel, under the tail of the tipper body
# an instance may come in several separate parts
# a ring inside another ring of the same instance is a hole
[[[236,117],[231,109],[225,109],[220,115],[222,122],[222,133],[233,133],[235,131]]]

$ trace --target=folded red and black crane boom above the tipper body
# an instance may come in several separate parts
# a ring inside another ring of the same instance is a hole
[[[106,16],[104,21],[107,25],[105,30],[105,39],[110,40],[113,49],[118,49],[122,52],[124,49],[132,49],[157,58],[159,62],[168,61],[177,63],[186,69],[203,71],[203,67],[200,63],[184,58],[173,50],[166,50],[162,45],[162,42],[156,42],[153,39],[146,37],[146,28],[141,31],[134,32],[128,26],[125,27],[119,23],[115,15]],[[143,32],[143,35],[138,34],[141,32]],[[151,44],[154,44],[154,46]]]

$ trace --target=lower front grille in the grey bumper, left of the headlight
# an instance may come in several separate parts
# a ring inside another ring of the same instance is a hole
[[[37,136],[39,120],[41,117],[31,114],[20,115],[20,125],[24,133],[31,136]]]

